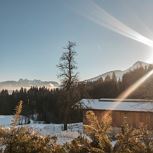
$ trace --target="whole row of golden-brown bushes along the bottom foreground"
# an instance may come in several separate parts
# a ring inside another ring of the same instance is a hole
[[[109,114],[102,122],[91,111],[86,115],[86,135],[64,145],[27,127],[0,128],[0,153],[153,153],[152,132],[130,128],[124,121],[113,146]]]

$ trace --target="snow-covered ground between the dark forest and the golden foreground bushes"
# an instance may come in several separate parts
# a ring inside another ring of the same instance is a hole
[[[0,126],[10,127],[12,121],[12,115],[0,115]],[[63,124],[27,124],[24,125],[34,129],[42,135],[50,135],[57,137],[57,143],[63,144],[72,141],[83,133],[82,123],[68,124],[68,130],[63,131]]]

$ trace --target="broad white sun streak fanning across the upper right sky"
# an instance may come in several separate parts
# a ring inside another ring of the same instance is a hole
[[[110,29],[125,37],[136,40],[149,47],[153,47],[153,41],[151,39],[143,36],[139,32],[125,25],[92,0],[88,1],[88,7],[86,7],[86,9],[79,10],[78,13],[100,26]]]

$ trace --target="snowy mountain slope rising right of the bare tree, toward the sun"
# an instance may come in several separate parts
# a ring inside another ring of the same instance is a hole
[[[109,71],[109,72],[106,72],[106,73],[104,73],[102,75],[99,75],[97,77],[85,80],[85,82],[93,82],[93,81],[96,81],[100,78],[105,79],[106,76],[110,76],[110,78],[112,78],[113,73],[115,73],[117,80],[119,80],[119,79],[122,80],[122,77],[125,73],[127,73],[129,71],[132,71],[132,70],[135,70],[135,69],[140,68],[140,67],[145,68],[145,67],[148,67],[149,65],[151,65],[151,64],[148,64],[148,63],[145,63],[145,62],[142,62],[142,61],[137,61],[131,67],[129,67],[128,69],[126,69],[124,71],[121,71],[121,70]]]

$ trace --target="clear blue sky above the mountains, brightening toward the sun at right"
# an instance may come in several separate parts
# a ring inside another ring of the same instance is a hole
[[[0,0],[0,81],[59,81],[76,42],[79,79],[153,63],[152,0]]]

